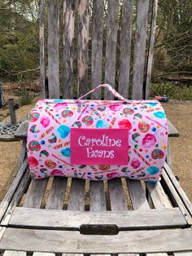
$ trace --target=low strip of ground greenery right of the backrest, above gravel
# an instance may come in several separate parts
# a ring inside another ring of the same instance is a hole
[[[171,82],[151,83],[150,96],[166,95],[169,99],[192,100],[192,86],[176,85]]]

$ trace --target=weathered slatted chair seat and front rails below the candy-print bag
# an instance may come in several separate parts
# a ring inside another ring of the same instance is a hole
[[[1,205],[0,248],[5,255],[13,249],[179,255],[192,251],[191,216],[190,201],[167,164],[159,183],[60,177],[31,181],[23,143],[20,170]]]

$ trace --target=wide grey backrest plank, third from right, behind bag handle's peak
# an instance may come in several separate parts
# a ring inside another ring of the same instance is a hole
[[[105,83],[115,87],[116,42],[118,28],[119,0],[108,0],[107,5],[107,44],[105,63]],[[110,91],[105,90],[105,99],[113,99]]]

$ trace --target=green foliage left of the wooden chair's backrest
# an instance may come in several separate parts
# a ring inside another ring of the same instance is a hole
[[[39,62],[35,2],[3,0],[0,3],[1,77],[20,80],[37,75],[37,72],[28,72],[28,69],[37,68]]]

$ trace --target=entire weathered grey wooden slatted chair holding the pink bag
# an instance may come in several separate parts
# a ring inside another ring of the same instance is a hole
[[[49,96],[59,98],[59,4],[51,0],[47,3]],[[119,5],[115,0],[108,0],[107,4],[104,4],[104,0],[94,0],[93,6],[88,0],[80,0],[78,36],[75,37],[78,42],[77,55],[73,49],[77,17],[75,1],[64,1],[63,97],[73,97],[73,60],[76,60],[76,56],[78,95],[85,94],[88,89],[89,4],[92,16],[91,85],[98,86],[102,82],[105,70],[105,82],[115,86],[115,80],[118,78],[118,90],[121,95],[127,97],[132,63],[132,15],[133,10],[136,10],[136,7],[133,7],[133,0],[124,0],[123,5],[121,2]],[[153,19],[146,59],[146,76],[143,76],[149,1],[137,1],[132,74],[133,99],[142,99],[143,91],[146,98],[149,95],[156,7],[157,1],[154,0],[153,8],[150,10]],[[45,96],[43,11],[44,1],[41,0],[41,92],[42,96]],[[106,38],[103,38],[103,31]],[[116,60],[119,61],[118,72]],[[143,77],[146,77],[145,90]],[[93,99],[100,97],[100,92],[92,95]],[[104,93],[104,97],[111,99],[107,92]],[[169,136],[178,135],[174,126],[168,123],[168,127]],[[0,249],[4,256],[192,254],[191,203],[167,163],[164,165],[162,179],[158,183],[129,179],[94,182],[60,177],[31,180],[26,157],[26,128],[27,125],[24,124],[17,131],[16,136],[23,139],[19,170],[0,205]]]

